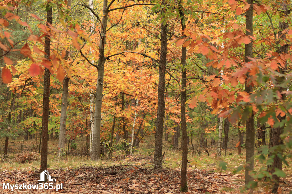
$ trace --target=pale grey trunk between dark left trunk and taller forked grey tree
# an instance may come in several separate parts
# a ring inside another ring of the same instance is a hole
[[[68,87],[69,77],[65,77],[63,82],[63,93],[62,93],[62,107],[60,117],[60,133],[59,133],[59,144],[58,144],[58,157],[61,157],[65,152],[65,138],[66,138],[66,119],[67,119],[67,107],[68,107]]]

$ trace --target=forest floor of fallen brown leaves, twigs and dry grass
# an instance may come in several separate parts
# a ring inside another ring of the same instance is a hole
[[[3,140],[2,140],[3,141]],[[58,140],[48,142],[48,172],[56,178],[55,184],[63,184],[59,191],[51,189],[3,189],[3,183],[10,184],[39,184],[40,161],[26,163],[16,162],[21,152],[21,140],[12,140],[9,144],[9,157],[0,161],[0,193],[181,193],[180,189],[180,151],[171,149],[165,143],[164,168],[153,170],[151,161],[153,156],[153,143],[145,140],[132,156],[122,157],[122,151],[116,151],[111,160],[101,159],[92,162],[84,149],[71,151],[63,160],[56,157]],[[235,143],[236,144],[236,143]],[[33,141],[24,141],[22,150],[31,151]],[[81,145],[78,145],[81,147]],[[230,145],[227,156],[221,159],[226,163],[227,169],[222,170],[218,158],[207,156],[202,149],[201,154],[192,156],[189,147],[187,184],[188,193],[244,193],[244,170],[234,174],[233,171],[245,161],[245,149],[237,154],[234,145]],[[215,146],[208,146],[208,151],[216,152]],[[1,153],[3,150],[0,149]],[[289,161],[291,163],[291,161]],[[255,158],[255,169],[259,164]],[[281,179],[279,193],[292,193],[292,168],[283,164],[286,177]],[[259,181],[255,193],[270,193],[271,183]]]

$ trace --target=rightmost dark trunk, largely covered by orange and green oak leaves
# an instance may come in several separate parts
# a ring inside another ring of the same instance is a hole
[[[281,7],[280,7],[280,10],[281,10],[281,13],[282,13],[282,17],[285,18],[285,19],[288,18],[288,15],[290,14],[289,3],[290,3],[290,1],[282,1]],[[278,33],[278,38],[280,38],[282,40],[286,39],[286,33],[283,34],[282,31],[284,31],[287,28],[288,28],[288,23],[286,23],[285,20],[283,20],[283,22],[279,22],[279,29],[281,31]],[[277,50],[277,52],[279,54],[288,53],[288,45],[287,44],[282,45]],[[284,68],[279,66],[279,73],[285,74],[286,70],[287,70],[287,63],[285,64]],[[285,81],[286,81],[286,77],[285,76],[281,76],[281,77],[277,76],[276,77],[277,85],[282,84]],[[275,88],[280,93],[282,91],[286,91],[287,90],[287,88],[284,88],[284,87],[281,87],[281,86],[277,86]],[[283,101],[285,100],[285,95],[284,94],[282,94],[282,100]],[[282,122],[283,120],[286,119],[286,115],[281,116],[281,114],[279,114],[277,116],[277,119],[279,120],[279,122]],[[285,125],[271,128],[271,136],[270,136],[270,144],[269,144],[270,148],[284,144],[284,141],[281,138],[281,135],[283,133],[284,128],[285,128]],[[270,173],[275,172],[275,168],[277,168],[279,170],[282,170],[282,159],[281,158],[283,156],[283,151],[284,150],[282,148],[280,148],[280,149],[275,149],[274,151],[269,153],[268,157],[270,158],[272,155],[274,155],[274,158],[273,158],[273,164],[272,165],[267,165],[267,171],[268,172],[270,172]],[[273,178],[273,182],[274,182],[274,186],[272,188],[272,193],[277,193],[278,192],[278,188],[279,188],[279,183],[280,183],[280,177],[278,177],[276,174],[273,174],[272,178]]]

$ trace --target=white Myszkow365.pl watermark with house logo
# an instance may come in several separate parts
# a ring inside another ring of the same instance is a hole
[[[40,174],[40,179],[38,181],[45,181],[47,179],[48,181],[55,181],[56,179],[53,179],[50,175],[50,173],[47,170],[44,170]],[[53,185],[53,183],[39,183],[39,184],[10,184],[10,183],[3,183],[3,189],[10,189],[11,191],[15,189],[54,189],[56,191],[63,189],[63,183]]]

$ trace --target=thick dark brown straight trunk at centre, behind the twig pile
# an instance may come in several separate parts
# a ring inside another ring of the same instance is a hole
[[[166,12],[166,2],[162,0],[162,5],[164,8],[162,13]],[[161,18],[163,19],[163,18]],[[156,121],[156,139],[155,139],[155,149],[154,149],[154,169],[162,168],[162,135],[163,135],[163,121],[165,113],[165,68],[166,68],[166,54],[167,54],[167,24],[166,21],[161,20],[160,29],[160,59],[159,59],[159,81],[158,81],[158,91],[157,91],[157,121]]]

